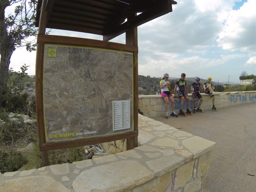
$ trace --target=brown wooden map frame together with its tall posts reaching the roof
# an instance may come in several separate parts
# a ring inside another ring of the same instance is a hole
[[[42,1],[40,9],[40,19],[38,25],[38,38],[37,38],[37,53],[36,53],[36,110],[37,110],[37,122],[38,122],[38,134],[39,134],[39,146],[41,151],[42,164],[44,166],[49,165],[48,152],[49,150],[54,150],[55,148],[67,148],[67,147],[76,147],[81,145],[88,145],[91,142],[93,143],[102,143],[120,139],[126,139],[126,150],[132,150],[134,147],[138,146],[138,32],[137,27],[132,27],[126,31],[126,45],[130,45],[130,49],[134,52],[134,67],[133,67],[133,88],[134,88],[134,131],[127,134],[118,134],[115,136],[108,136],[102,138],[93,138],[91,140],[75,140],[73,142],[67,143],[51,143],[47,146],[45,145],[45,133],[42,132],[42,127],[44,126],[44,116],[42,115],[43,110],[43,100],[42,100],[42,64],[43,64],[43,55],[44,51],[44,42],[61,42],[67,43],[69,45],[81,45],[87,44],[97,47],[110,47],[112,49],[120,50],[120,44],[109,43],[108,41],[93,41],[82,38],[72,38],[72,37],[60,37],[60,36],[47,36],[46,26],[48,22],[49,12],[46,9],[47,1]],[[137,14],[131,15],[127,20],[134,19]],[[129,49],[126,47],[126,49]]]

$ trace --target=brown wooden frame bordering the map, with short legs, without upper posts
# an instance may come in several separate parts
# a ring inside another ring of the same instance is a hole
[[[106,136],[100,136],[100,137],[94,137],[94,138],[88,138],[88,139],[75,139],[75,140],[68,140],[68,141],[57,141],[57,142],[47,142],[46,140],[46,130],[45,130],[45,109],[44,109],[44,46],[46,44],[59,44],[59,45],[69,45],[69,46],[87,46],[87,47],[93,47],[93,48],[108,48],[110,50],[117,50],[117,51],[129,51],[134,54],[133,57],[133,68],[137,66],[137,53],[138,48],[136,46],[130,46],[130,45],[122,45],[122,44],[116,44],[113,42],[107,42],[107,41],[99,41],[99,40],[92,40],[92,39],[84,39],[84,38],[76,38],[76,37],[66,37],[66,36],[53,36],[53,35],[38,35],[37,40],[38,46],[37,46],[37,57],[36,57],[36,106],[37,106],[37,123],[38,123],[38,134],[39,134],[39,148],[42,152],[43,162],[44,164],[48,164],[48,156],[47,151],[50,150],[56,150],[60,148],[68,148],[68,147],[77,147],[77,146],[83,146],[83,145],[89,145],[94,143],[103,143],[103,142],[109,142],[114,140],[120,140],[120,139],[128,139],[127,141],[127,150],[134,148],[135,140],[131,138],[135,138],[138,136],[138,128],[137,128],[137,107],[133,110],[133,117],[135,121],[133,121],[133,131],[124,132],[124,133],[117,133],[113,135],[106,135]],[[133,71],[136,71],[136,69],[133,69]],[[134,75],[136,76],[136,74]],[[133,81],[135,82],[137,78],[134,78]],[[137,81],[136,81],[137,82]],[[136,83],[135,83],[136,86]],[[134,87],[134,84],[133,84]],[[137,105],[137,94],[134,89],[134,98],[135,101],[133,101],[133,105]],[[136,96],[135,96],[136,95]],[[134,99],[132,98],[132,99]]]

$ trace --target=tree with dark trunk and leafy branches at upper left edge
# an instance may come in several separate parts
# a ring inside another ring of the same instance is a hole
[[[13,14],[5,18],[5,9],[16,4]],[[35,28],[36,0],[0,0],[0,87],[7,86],[10,59],[16,48],[34,51],[36,43],[28,37],[37,35]],[[0,92],[2,103],[4,92]],[[2,108],[2,105],[0,105]]]

